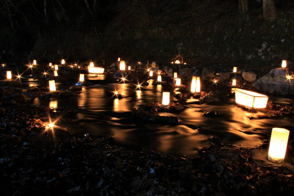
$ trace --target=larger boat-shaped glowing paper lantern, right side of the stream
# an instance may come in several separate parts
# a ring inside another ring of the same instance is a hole
[[[239,105],[249,108],[265,108],[268,103],[268,96],[235,88],[235,101]]]

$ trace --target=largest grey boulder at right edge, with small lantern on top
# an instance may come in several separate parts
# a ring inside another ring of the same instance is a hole
[[[292,79],[287,79],[290,76]],[[274,68],[252,85],[258,91],[275,95],[294,95],[294,75],[288,68]]]

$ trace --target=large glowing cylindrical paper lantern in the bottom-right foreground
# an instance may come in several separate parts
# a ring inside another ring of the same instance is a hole
[[[268,150],[268,160],[274,163],[284,162],[289,133],[290,131],[287,129],[272,129],[272,135],[270,137],[270,148]]]

